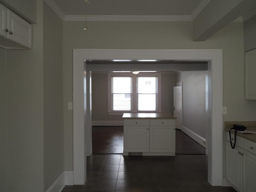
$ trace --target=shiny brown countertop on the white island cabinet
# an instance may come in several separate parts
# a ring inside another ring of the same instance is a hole
[[[176,119],[176,117],[172,116],[168,113],[124,113],[123,118],[131,118],[131,119],[137,119],[137,118],[144,118],[144,119]]]

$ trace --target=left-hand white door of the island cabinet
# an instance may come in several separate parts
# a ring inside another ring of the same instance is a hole
[[[149,152],[148,126],[124,126],[124,152]]]

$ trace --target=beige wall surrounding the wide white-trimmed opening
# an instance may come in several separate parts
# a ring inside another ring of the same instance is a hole
[[[64,106],[72,100],[73,48],[222,49],[224,121],[255,120],[256,102],[244,100],[243,23],[231,23],[204,42],[193,42],[192,22],[64,22]],[[72,112],[64,108],[65,170],[73,170]]]

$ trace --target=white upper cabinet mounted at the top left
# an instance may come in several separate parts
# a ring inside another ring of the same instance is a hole
[[[32,47],[32,25],[0,4],[0,47],[24,49]]]

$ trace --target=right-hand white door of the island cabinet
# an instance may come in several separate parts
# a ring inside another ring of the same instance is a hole
[[[175,126],[150,126],[150,152],[175,153]]]

